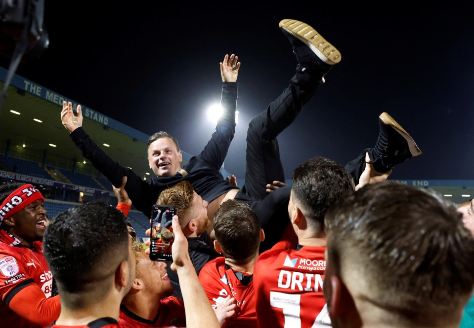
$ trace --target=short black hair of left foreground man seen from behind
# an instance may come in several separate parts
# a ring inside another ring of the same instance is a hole
[[[101,202],[70,208],[51,220],[43,253],[59,292],[93,291],[129,258],[129,231],[121,211]]]

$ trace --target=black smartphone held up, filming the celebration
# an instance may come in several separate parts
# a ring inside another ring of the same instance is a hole
[[[151,211],[150,259],[172,262],[171,248],[174,241],[172,219],[176,208],[167,205],[153,205]]]

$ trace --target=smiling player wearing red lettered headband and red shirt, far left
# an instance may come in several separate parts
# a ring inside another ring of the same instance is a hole
[[[52,274],[42,253],[44,197],[31,184],[0,187],[0,322],[2,327],[44,327],[57,319]]]

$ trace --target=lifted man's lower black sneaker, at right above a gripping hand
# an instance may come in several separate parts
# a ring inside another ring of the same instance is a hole
[[[379,116],[380,132],[371,162],[377,172],[385,173],[395,165],[422,154],[412,137],[386,112]]]

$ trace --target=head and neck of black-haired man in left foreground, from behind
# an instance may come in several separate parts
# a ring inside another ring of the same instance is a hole
[[[132,237],[120,211],[103,203],[64,211],[48,225],[43,252],[61,295],[52,327],[119,327],[120,303],[135,277]]]

